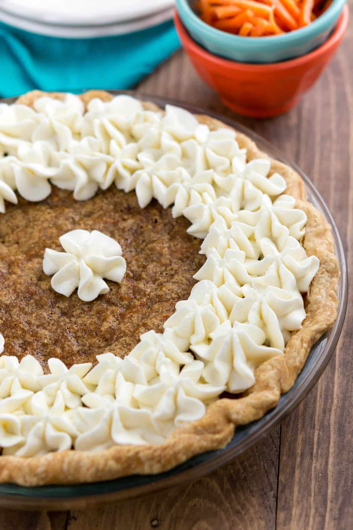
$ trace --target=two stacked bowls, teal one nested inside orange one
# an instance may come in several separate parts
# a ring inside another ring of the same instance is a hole
[[[346,0],[309,25],[275,36],[242,37],[201,20],[194,0],[176,0],[175,26],[202,79],[230,109],[258,118],[285,112],[321,75],[347,29]]]

